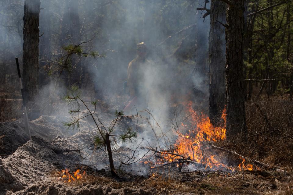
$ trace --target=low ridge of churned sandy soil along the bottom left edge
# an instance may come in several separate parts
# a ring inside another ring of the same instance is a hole
[[[153,195],[156,194],[156,190],[143,190],[143,189],[133,189],[129,187],[121,189],[112,189],[109,186],[101,186],[97,184],[83,184],[81,186],[65,186],[61,183],[35,183],[28,186],[26,189],[19,192],[13,193],[13,195],[22,194],[38,194],[38,195],[95,195],[95,194],[107,194],[107,195]]]

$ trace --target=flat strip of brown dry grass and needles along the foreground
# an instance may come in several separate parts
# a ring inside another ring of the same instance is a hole
[[[266,179],[254,172],[244,171],[226,175],[224,172],[174,172],[152,173],[148,176],[129,176],[115,179],[109,173],[91,173],[80,180],[65,184],[78,186],[83,183],[123,187],[154,188],[157,194],[293,194],[292,176]],[[58,180],[60,174],[52,172],[51,179]],[[62,181],[60,181],[62,182]]]

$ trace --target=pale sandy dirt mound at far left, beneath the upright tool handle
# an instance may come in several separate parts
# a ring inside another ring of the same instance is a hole
[[[12,155],[2,159],[0,173],[5,177],[0,179],[0,190],[18,191],[29,184],[47,180],[46,176],[57,166],[63,165],[63,162],[64,155],[60,148],[39,136],[32,136]]]

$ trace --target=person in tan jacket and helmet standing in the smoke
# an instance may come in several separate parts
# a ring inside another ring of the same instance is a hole
[[[144,42],[136,46],[137,57],[128,64],[127,69],[127,87],[129,89],[130,102],[124,108],[124,111],[130,111],[136,104],[145,104],[146,92],[144,89],[144,71],[148,68],[150,62],[146,59],[147,47]]]

